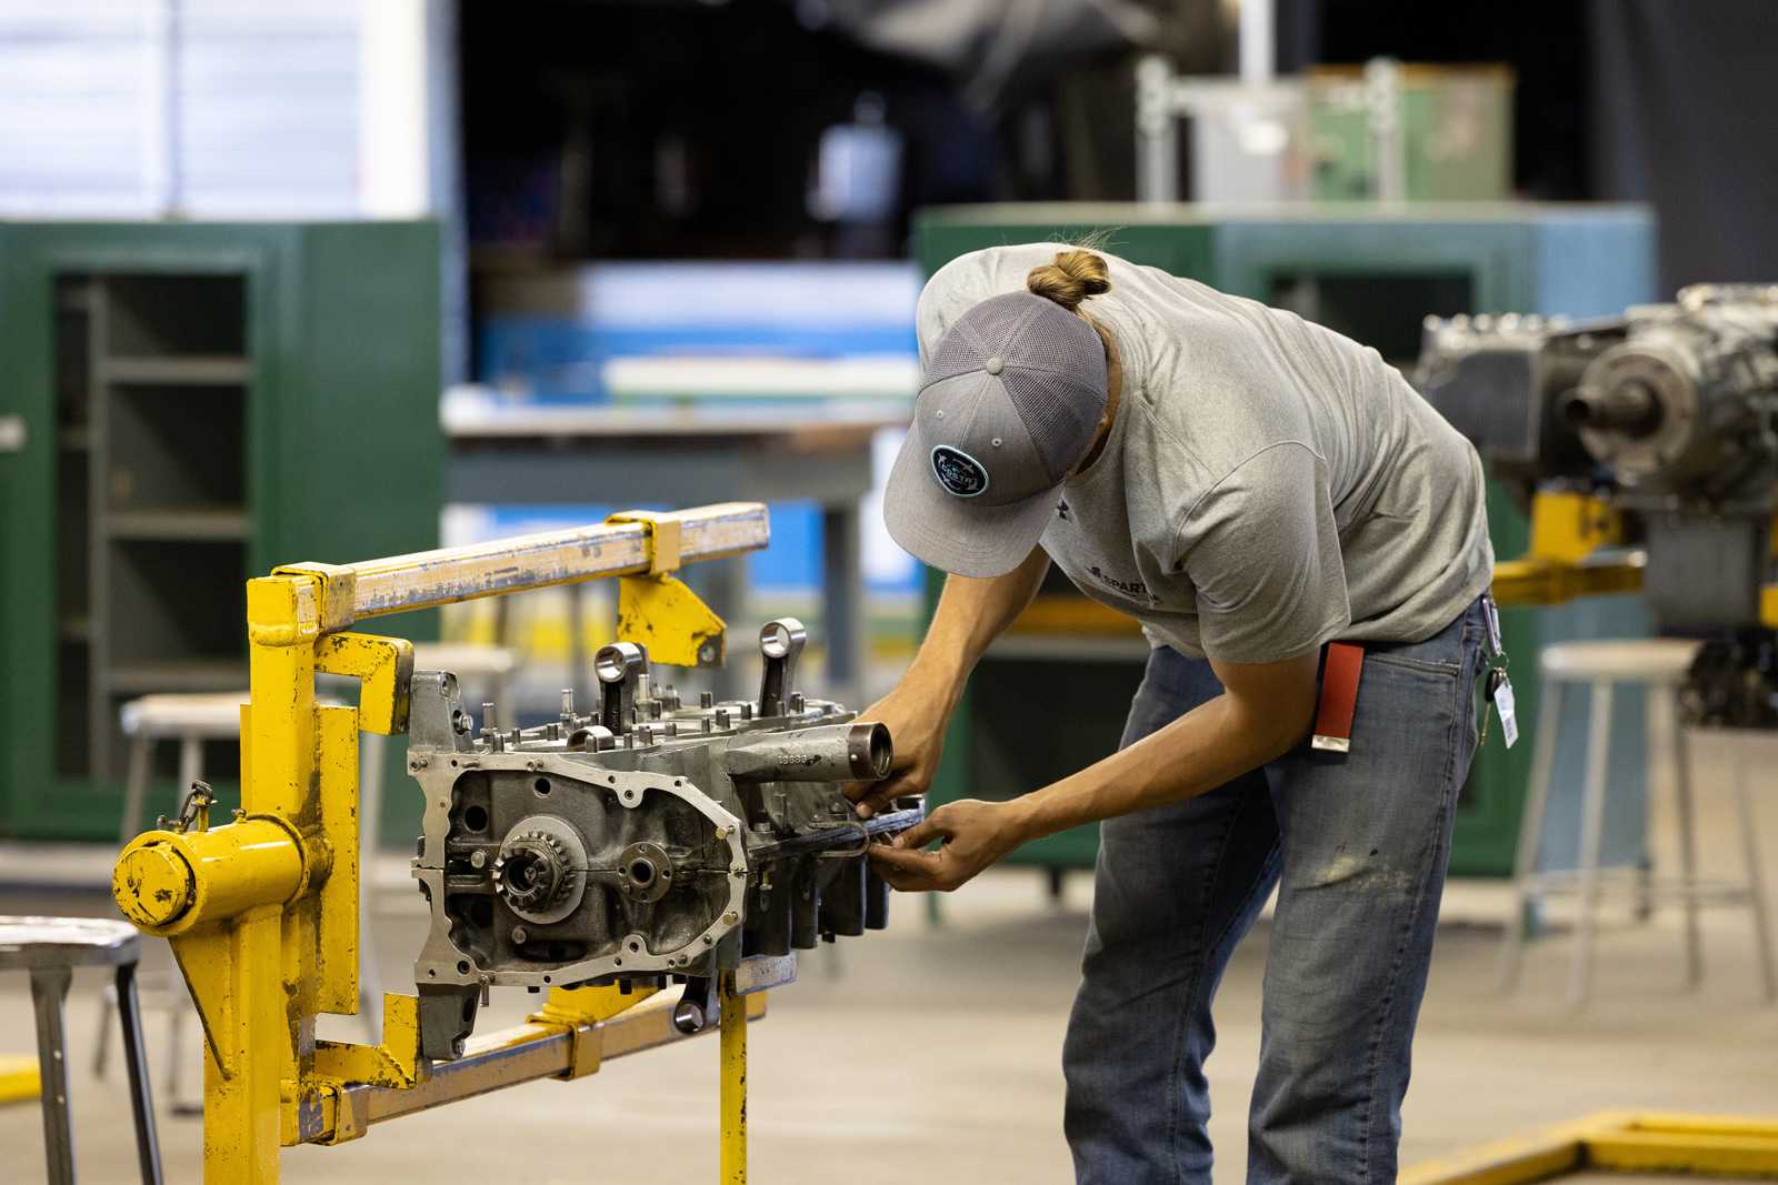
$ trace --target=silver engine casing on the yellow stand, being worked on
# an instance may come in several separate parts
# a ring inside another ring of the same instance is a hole
[[[654,695],[647,656],[619,643],[596,661],[596,714],[564,693],[558,720],[500,730],[484,705],[480,736],[452,673],[414,673],[428,1057],[461,1055],[491,986],[685,979],[702,1016],[741,958],[885,924],[864,846],[921,810],[862,821],[843,785],[889,773],[887,730],[791,691],[797,622],[768,624],[761,643],[759,700],[685,707],[670,688]]]

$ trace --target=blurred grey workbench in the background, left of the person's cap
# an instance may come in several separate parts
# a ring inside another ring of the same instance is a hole
[[[871,437],[905,405],[610,407],[446,394],[446,501],[683,508],[813,501],[821,508],[821,636],[827,693],[859,702],[864,590],[859,501]],[[699,590],[729,620],[743,608],[745,558],[701,565]],[[729,668],[724,675],[736,679]]]

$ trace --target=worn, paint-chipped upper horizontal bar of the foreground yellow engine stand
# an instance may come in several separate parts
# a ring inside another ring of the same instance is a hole
[[[679,524],[681,561],[752,551],[772,538],[761,503],[718,503],[660,517]],[[469,547],[366,560],[329,569],[329,576],[352,581],[352,620],[363,620],[594,576],[647,572],[651,531],[644,522],[599,522]]]

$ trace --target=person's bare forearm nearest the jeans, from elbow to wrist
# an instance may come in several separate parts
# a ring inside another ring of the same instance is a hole
[[[1017,799],[1019,842],[1197,798],[1284,755],[1307,730],[1301,711],[1280,718],[1220,695],[1129,748]]]

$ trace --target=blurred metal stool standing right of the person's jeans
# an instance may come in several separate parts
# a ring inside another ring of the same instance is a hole
[[[1547,647],[1540,656],[1543,670],[1543,705],[1538,712],[1538,739],[1531,767],[1531,792],[1526,801],[1524,823],[1518,830],[1518,858],[1513,874],[1513,919],[1501,949],[1501,984],[1511,988],[1518,981],[1524,961],[1527,913],[1534,901],[1550,892],[1575,890],[1581,897],[1575,924],[1574,968],[1570,972],[1568,1002],[1581,1007],[1591,991],[1595,915],[1600,892],[1600,840],[1606,819],[1606,776],[1611,757],[1611,698],[1616,684],[1641,684],[1652,695],[1677,696],[1686,682],[1686,672],[1698,650],[1696,641],[1652,638],[1634,641],[1568,641]],[[1574,871],[1538,871],[1543,844],[1543,815],[1549,807],[1550,776],[1556,767],[1556,734],[1561,728],[1561,709],[1566,689],[1574,684],[1591,688],[1586,736],[1586,775],[1581,799],[1581,867]],[[1650,712],[1650,718],[1654,714]],[[1766,890],[1760,878],[1758,833],[1753,826],[1753,805],[1746,778],[1741,776],[1741,759],[1735,767],[1735,798],[1741,810],[1741,839],[1746,860],[1746,878],[1730,883],[1707,883],[1698,878],[1698,849],[1693,828],[1691,769],[1686,752],[1686,730],[1675,714],[1668,714],[1668,730],[1661,743],[1673,752],[1675,814],[1678,819],[1680,876],[1668,887],[1643,885],[1638,888],[1646,901],[1657,895],[1677,897],[1686,910],[1686,982],[1696,986],[1703,977],[1703,943],[1698,927],[1698,910],[1705,901],[1742,904],[1753,917],[1753,940],[1758,952],[1760,988],[1769,1002],[1774,993],[1771,933],[1766,920]]]

